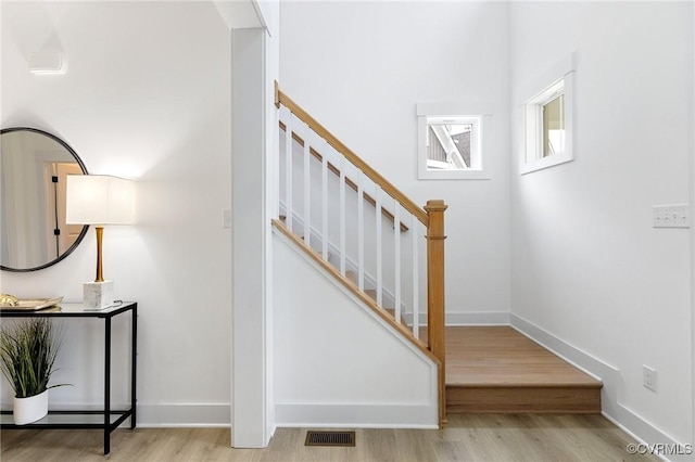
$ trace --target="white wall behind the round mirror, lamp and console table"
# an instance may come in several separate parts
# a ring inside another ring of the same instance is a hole
[[[104,271],[139,303],[140,424],[229,423],[229,30],[207,2],[2,2],[1,125],[66,141],[93,174],[138,182],[138,223],[108,228]],[[63,50],[63,76],[34,76],[27,53]],[[65,260],[2,272],[17,296],[81,299],[93,231]],[[124,320],[125,321],[125,320]],[[101,325],[71,321],[51,402],[101,397]],[[126,334],[127,322],[114,324]],[[127,352],[127,349],[117,348]],[[114,383],[127,364],[115,365]],[[125,386],[114,390],[123,400]],[[3,386],[2,406],[11,393]]]

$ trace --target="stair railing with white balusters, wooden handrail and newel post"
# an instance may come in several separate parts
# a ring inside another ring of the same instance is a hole
[[[276,106],[281,149],[273,226],[437,364],[442,426],[446,205],[415,204],[277,82]],[[419,338],[420,312],[427,341]]]

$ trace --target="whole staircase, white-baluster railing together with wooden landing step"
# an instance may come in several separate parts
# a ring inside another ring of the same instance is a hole
[[[447,412],[601,412],[599,381],[511,328],[444,328],[443,201],[413,203],[277,85],[276,106],[274,227],[438,364],[440,426]]]

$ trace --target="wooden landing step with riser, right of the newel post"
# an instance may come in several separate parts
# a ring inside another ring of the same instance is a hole
[[[447,412],[601,412],[601,381],[513,328],[450,326],[445,336]]]

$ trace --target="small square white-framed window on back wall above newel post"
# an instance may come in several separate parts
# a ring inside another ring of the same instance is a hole
[[[419,179],[489,178],[483,169],[488,116],[481,114],[490,111],[470,111],[473,108],[464,104],[417,105]]]

